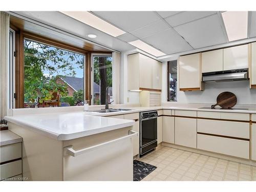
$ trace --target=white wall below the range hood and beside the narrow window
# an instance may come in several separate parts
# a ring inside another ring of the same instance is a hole
[[[179,70],[179,67],[178,67]],[[167,74],[167,67],[163,66],[163,77]],[[179,74],[179,72],[178,72]],[[179,78],[179,76],[178,76]],[[167,79],[162,82],[162,89],[166,90]],[[179,88],[178,88],[179,89]],[[205,83],[204,91],[177,91],[179,103],[216,103],[217,96],[229,91],[237,96],[237,104],[256,104],[256,89],[249,89],[249,81],[211,82]],[[163,92],[164,93],[164,92]],[[167,93],[162,93],[162,102],[167,101]]]

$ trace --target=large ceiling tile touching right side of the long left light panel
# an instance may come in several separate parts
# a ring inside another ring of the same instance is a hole
[[[161,19],[154,11],[93,11],[93,13],[127,32]]]

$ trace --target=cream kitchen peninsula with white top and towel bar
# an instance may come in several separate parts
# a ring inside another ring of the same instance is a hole
[[[133,120],[83,112],[5,117],[23,138],[26,180],[133,180]]]

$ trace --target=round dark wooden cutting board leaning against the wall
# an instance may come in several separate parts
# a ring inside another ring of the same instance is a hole
[[[217,103],[211,105],[214,109],[216,105],[221,106],[222,109],[230,109],[232,106],[237,104],[237,97],[231,92],[222,92],[217,97]]]

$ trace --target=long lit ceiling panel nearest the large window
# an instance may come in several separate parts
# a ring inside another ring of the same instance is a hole
[[[80,22],[94,27],[104,33],[108,33],[109,35],[112,35],[114,37],[125,33],[121,29],[111,25],[108,22],[105,22],[101,18],[95,16],[88,11],[61,11],[61,13],[68,15],[76,20],[79,20]]]

